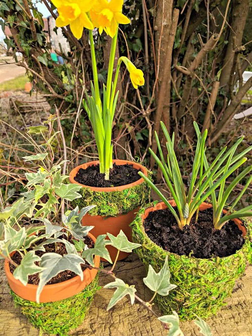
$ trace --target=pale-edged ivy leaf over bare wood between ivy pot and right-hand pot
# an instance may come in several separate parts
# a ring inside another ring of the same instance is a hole
[[[116,288],[116,291],[109,301],[107,310],[111,309],[118,301],[120,301],[126,295],[130,296],[132,305],[135,302],[135,293],[137,292],[135,286],[129,286],[128,284],[125,284],[124,281],[122,281],[121,279],[116,278],[113,283],[105,285],[104,288]]]

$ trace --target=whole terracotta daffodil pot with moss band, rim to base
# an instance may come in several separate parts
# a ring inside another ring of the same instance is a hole
[[[127,160],[113,160],[117,165],[131,164],[134,168],[141,170],[145,176],[150,177],[150,172],[137,162]],[[130,223],[135,219],[135,215],[139,207],[145,204],[150,195],[150,188],[143,178],[131,184],[119,187],[98,188],[82,185],[75,181],[78,171],[87,169],[90,165],[99,164],[99,161],[87,162],[78,165],[70,173],[69,179],[71,183],[79,184],[83,188],[80,190],[82,198],[74,200],[74,206],[79,208],[96,205],[89,214],[82,219],[83,226],[94,226],[91,230],[92,234],[97,237],[102,234],[110,233],[114,236],[118,235],[120,230],[132,240],[132,230]],[[111,246],[107,246],[112,261],[115,258],[117,250]],[[118,260],[124,259],[129,253],[120,252]]]

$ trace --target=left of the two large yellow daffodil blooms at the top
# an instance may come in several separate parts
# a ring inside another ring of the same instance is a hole
[[[59,16],[57,27],[70,25],[71,31],[78,39],[81,38],[83,28],[94,29],[87,13],[94,6],[93,0],[51,0],[57,8]]]

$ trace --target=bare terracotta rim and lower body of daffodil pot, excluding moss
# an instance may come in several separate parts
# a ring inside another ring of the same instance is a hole
[[[142,166],[140,163],[127,161],[127,160],[117,160],[117,159],[113,160],[113,163],[116,163],[117,165],[131,164],[133,165],[134,168],[138,170],[140,169],[145,176],[148,176],[147,169],[144,166]],[[123,191],[125,189],[130,189],[132,187],[135,187],[145,182],[143,178],[140,178],[138,181],[124,185],[124,186],[98,188],[98,187],[86,186],[86,185],[83,185],[75,181],[74,178],[81,168],[87,169],[87,167],[91,165],[96,165],[96,164],[99,164],[99,161],[87,162],[87,163],[84,163],[84,164],[81,164],[75,167],[70,173],[70,176],[69,176],[70,182],[79,184],[80,186],[89,188],[90,190],[95,191],[95,192],[106,192],[106,193],[120,192],[120,191]],[[101,215],[91,216],[90,214],[86,214],[82,219],[82,225],[83,226],[94,226],[94,229],[92,229],[91,232],[95,237],[99,235],[104,235],[106,233],[110,233],[114,236],[117,236],[120,230],[122,230],[124,234],[127,236],[127,238],[130,241],[132,241],[132,229],[130,228],[130,223],[135,219],[135,216],[138,210],[139,210],[139,207],[129,211],[126,214],[118,214],[116,216],[111,216],[111,217],[101,216]],[[111,246],[107,246],[107,249],[110,253],[110,257],[112,261],[114,261],[117,250]],[[120,252],[118,260],[124,259],[129,254],[130,253]]]

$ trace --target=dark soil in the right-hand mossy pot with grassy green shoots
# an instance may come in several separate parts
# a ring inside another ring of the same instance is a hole
[[[200,211],[198,222],[195,219],[196,214],[191,225],[180,230],[169,209],[156,210],[150,212],[144,220],[144,228],[155,244],[178,255],[192,255],[203,259],[226,257],[242,247],[242,232],[232,220],[221,230],[215,230],[212,209]]]

